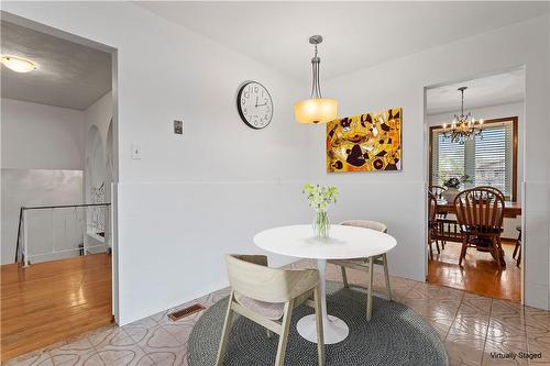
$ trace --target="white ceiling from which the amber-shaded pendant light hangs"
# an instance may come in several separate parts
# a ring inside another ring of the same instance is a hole
[[[550,11],[550,2],[135,2],[295,79],[321,77],[472,36]]]

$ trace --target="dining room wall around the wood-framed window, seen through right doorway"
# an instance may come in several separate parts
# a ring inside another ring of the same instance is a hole
[[[521,202],[521,186],[520,182],[524,181],[524,117],[525,108],[524,102],[506,103],[498,106],[487,106],[474,109],[468,109],[472,112],[475,119],[491,120],[506,117],[517,117],[518,118],[518,156],[517,156],[517,201]],[[439,114],[428,114],[427,123],[428,126],[441,125],[443,123],[449,123],[454,114],[460,114],[460,111],[451,111],[447,113]],[[503,236],[508,239],[516,239],[517,231],[516,226],[521,225],[521,217],[515,219],[504,219],[504,232]]]

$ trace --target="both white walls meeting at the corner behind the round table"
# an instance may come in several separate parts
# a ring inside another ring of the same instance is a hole
[[[391,254],[392,271],[424,280],[424,87],[520,64],[527,64],[527,123],[532,120],[526,133],[532,162],[526,165],[531,210],[526,217],[535,228],[527,235],[526,293],[530,304],[548,308],[549,234],[541,231],[548,207],[530,196],[543,193],[548,202],[550,163],[540,147],[547,148],[541,143],[549,137],[548,106],[541,102],[549,96],[548,16],[324,82],[327,96],[340,100],[341,115],[404,108],[403,171],[328,176],[323,126],[294,122],[293,103],[308,96],[307,85],[133,4],[4,2],[3,8],[118,48],[121,324],[226,285],[223,253],[256,252],[257,231],[310,222],[304,182],[338,184],[342,197],[333,222],[358,217],[387,222],[399,242]],[[471,57],[457,58],[457,49],[469,49]],[[263,82],[273,96],[275,114],[266,130],[252,131],[239,120],[235,92],[246,79]],[[184,120],[183,136],[172,134],[174,119]],[[132,143],[141,145],[142,159],[130,158]]]

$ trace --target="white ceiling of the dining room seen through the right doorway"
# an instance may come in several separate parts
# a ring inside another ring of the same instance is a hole
[[[426,91],[427,113],[438,114],[460,110],[460,87],[464,91],[464,110],[524,101],[522,69],[465,80]]]

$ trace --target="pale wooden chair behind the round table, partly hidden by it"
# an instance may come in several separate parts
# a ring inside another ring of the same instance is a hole
[[[355,226],[376,230],[383,233],[387,233],[387,226],[381,222],[367,221],[367,220],[350,220],[340,223],[345,226]],[[386,297],[392,301],[392,288],[389,287],[389,273],[387,270],[387,257],[386,253],[369,257],[369,258],[351,258],[351,259],[329,259],[328,263],[340,266],[342,271],[342,281],[345,288],[350,288],[348,284],[348,275],[345,274],[345,268],[359,269],[369,273],[369,287],[366,293],[366,321],[370,321],[373,313],[373,280],[374,280],[374,265],[383,266],[384,268],[384,280],[386,285]]]

